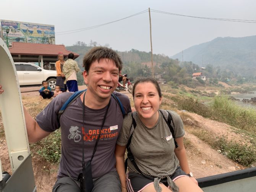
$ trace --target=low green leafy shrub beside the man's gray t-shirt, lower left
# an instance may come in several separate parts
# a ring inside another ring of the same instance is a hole
[[[41,141],[37,142],[36,153],[51,163],[59,163],[61,156],[61,131],[51,133]]]

